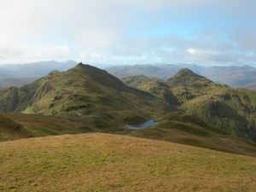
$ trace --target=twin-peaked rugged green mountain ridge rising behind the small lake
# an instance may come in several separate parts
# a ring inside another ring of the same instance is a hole
[[[137,88],[140,90],[102,69],[79,63],[67,72],[54,71],[32,84],[0,91],[0,111],[79,114],[103,127],[184,111],[233,136],[256,141],[256,96],[252,91],[215,84],[189,69],[181,69],[166,82],[144,79]]]

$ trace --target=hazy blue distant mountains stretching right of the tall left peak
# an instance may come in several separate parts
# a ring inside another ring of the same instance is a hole
[[[166,80],[182,68],[189,68],[193,72],[207,77],[207,79],[211,79],[216,83],[256,90],[256,68],[250,66],[201,67],[195,64],[162,64],[108,67],[106,70],[108,73],[119,78],[145,75],[149,78]]]

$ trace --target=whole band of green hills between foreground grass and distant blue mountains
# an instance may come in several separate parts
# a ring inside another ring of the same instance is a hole
[[[247,143],[255,142],[254,92],[215,84],[188,69],[166,82],[143,76],[126,82],[141,90],[79,63],[67,72],[2,90],[1,117],[8,123],[0,125],[0,139],[109,132],[255,155],[255,146]],[[148,119],[159,123],[142,131],[122,128]]]

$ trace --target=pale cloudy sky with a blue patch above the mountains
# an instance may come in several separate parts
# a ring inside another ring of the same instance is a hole
[[[256,67],[255,0],[0,0],[0,64]]]

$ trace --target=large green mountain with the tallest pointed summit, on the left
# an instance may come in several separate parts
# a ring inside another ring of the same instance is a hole
[[[67,72],[54,71],[32,84],[0,91],[0,111],[55,114],[110,114],[125,117],[128,111],[177,110],[142,90],[131,88],[106,71],[79,63]],[[125,113],[127,111],[127,113]]]

